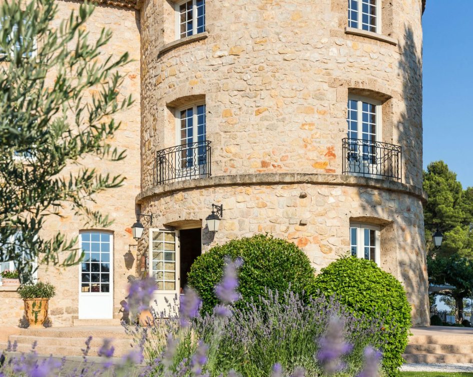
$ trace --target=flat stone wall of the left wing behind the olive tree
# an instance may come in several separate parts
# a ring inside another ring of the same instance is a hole
[[[79,8],[80,1],[57,1],[59,13],[54,25],[69,17],[72,10]],[[114,234],[114,317],[121,318],[120,302],[127,295],[127,276],[134,274],[133,269],[125,267],[124,255],[131,250],[136,258],[136,247],[130,247],[136,242],[131,236],[131,225],[135,217],[135,196],[140,192],[140,20],[139,12],[131,9],[99,5],[87,22],[87,31],[90,40],[99,37],[103,27],[112,29],[112,40],[102,48],[99,59],[108,56],[117,58],[128,51],[134,61],[122,71],[125,74],[123,85],[120,89],[120,100],[132,94],[135,99],[133,106],[126,112],[116,115],[115,119],[121,121],[120,130],[116,133],[113,144],[121,150],[127,150],[127,157],[123,161],[110,162],[96,157],[89,157],[82,161],[83,166],[95,167],[103,174],[112,176],[123,174],[126,180],[122,187],[107,190],[97,195],[96,203],[90,203],[94,210],[110,215],[114,224],[107,230]],[[54,73],[54,72],[53,72]],[[94,90],[85,93],[89,100],[94,95]],[[69,167],[65,170],[68,173]],[[50,217],[43,231],[44,237],[53,237],[60,230],[69,239],[79,236],[81,230],[89,229],[85,219],[75,216],[72,211],[65,208],[65,217]],[[79,247],[79,245],[77,245]],[[65,256],[63,256],[65,257]],[[57,295],[50,302],[50,318],[53,326],[70,326],[78,318],[79,299],[79,266],[67,269],[40,266],[38,278],[50,281],[57,290]],[[0,291],[0,298],[8,305],[0,308],[0,324],[16,326],[23,316],[23,302],[15,292]]]

